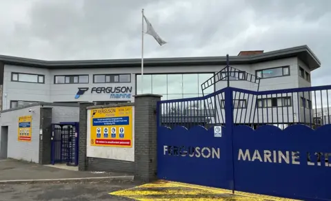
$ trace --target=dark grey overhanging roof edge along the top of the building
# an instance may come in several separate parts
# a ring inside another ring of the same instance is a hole
[[[230,56],[230,65],[251,64],[275,59],[285,59],[297,56],[310,70],[317,69],[321,62],[307,45],[290,47],[272,52],[264,52],[252,56]],[[90,67],[139,67],[141,59],[103,59],[103,60],[77,60],[77,61],[45,61],[26,59],[15,56],[0,55],[0,62],[11,65],[24,65],[49,69],[59,68],[90,68]],[[144,59],[144,67],[190,66],[190,65],[225,65],[226,56],[206,57],[179,57]]]

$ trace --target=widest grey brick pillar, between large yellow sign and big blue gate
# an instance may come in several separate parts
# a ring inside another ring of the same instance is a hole
[[[157,101],[160,95],[134,96],[134,178],[157,179]]]

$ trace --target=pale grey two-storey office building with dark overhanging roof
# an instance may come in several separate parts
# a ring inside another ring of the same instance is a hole
[[[40,101],[88,101],[98,105],[134,102],[134,95],[141,93],[161,94],[162,100],[193,98],[227,86],[226,79],[219,81],[213,78],[215,84],[212,87],[201,89],[202,83],[225,67],[225,56],[145,59],[144,65],[141,84],[140,59],[40,61],[0,56],[1,108],[10,109]],[[230,56],[230,66],[239,71],[230,79],[230,86],[252,91],[257,91],[257,86],[259,91],[310,87],[310,73],[320,65],[317,56],[306,45],[272,52],[245,51],[238,56]],[[259,85],[248,81],[247,77],[241,80],[243,74],[259,78]],[[308,96],[309,94],[305,95],[304,101],[308,102],[305,105],[308,105],[306,109],[309,110],[312,108],[309,106],[311,100]],[[254,107],[268,105],[277,108],[288,102],[285,97],[287,96],[281,95],[248,100],[247,96],[241,94],[234,98],[237,101],[234,105],[244,104],[249,109],[250,101],[255,101]],[[298,102],[297,99],[294,100],[296,97],[292,98],[292,103]],[[221,101],[219,100],[220,103]],[[217,106],[214,104],[210,107]],[[235,109],[234,114],[236,112]],[[295,114],[298,112],[290,109],[288,118],[300,118]],[[277,118],[277,114],[272,114],[270,118]]]

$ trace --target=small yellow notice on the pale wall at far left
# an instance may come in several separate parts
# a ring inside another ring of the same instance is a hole
[[[18,140],[31,142],[32,138],[32,116],[19,116]]]

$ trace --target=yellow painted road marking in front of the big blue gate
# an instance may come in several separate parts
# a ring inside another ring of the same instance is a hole
[[[290,201],[291,199],[277,198],[268,195],[259,195],[253,193],[244,193],[227,189],[217,189],[212,187],[203,187],[195,184],[185,184],[181,182],[169,182],[158,180],[148,184],[143,184],[131,189],[115,191],[109,193],[134,200],[141,201],[168,201],[168,200],[275,200]]]

